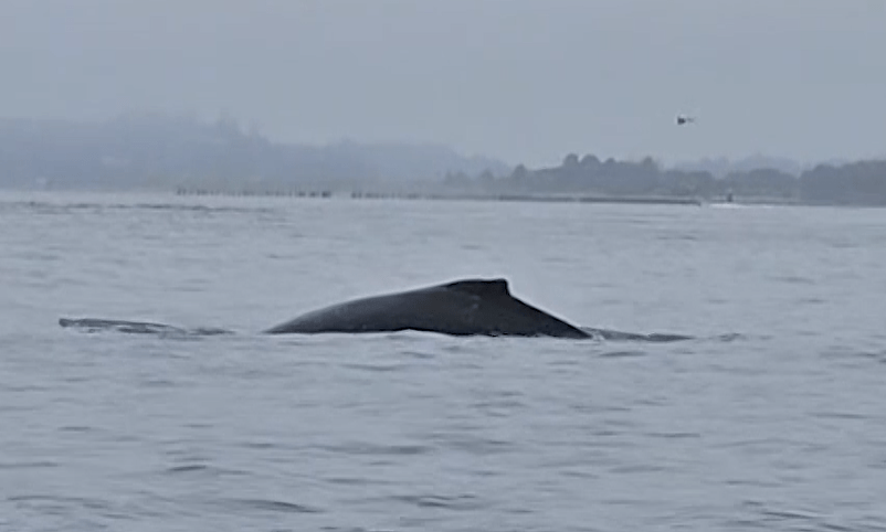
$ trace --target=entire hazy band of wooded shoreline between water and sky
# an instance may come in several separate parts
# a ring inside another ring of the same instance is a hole
[[[886,159],[798,167],[757,157],[664,167],[570,152],[527,168],[436,145],[275,142],[230,118],[125,115],[104,123],[0,118],[0,187],[182,195],[558,203],[886,206]],[[331,191],[331,192],[330,192]],[[356,191],[356,192],[351,192]]]

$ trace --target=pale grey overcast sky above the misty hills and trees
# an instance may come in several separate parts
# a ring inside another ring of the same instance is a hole
[[[886,156],[886,0],[3,0],[0,65],[0,117],[228,114],[529,167]]]

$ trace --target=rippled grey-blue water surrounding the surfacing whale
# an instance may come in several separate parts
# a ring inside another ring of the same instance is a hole
[[[886,530],[886,211],[7,192],[0,227],[2,531]],[[256,333],[467,276],[696,339]]]

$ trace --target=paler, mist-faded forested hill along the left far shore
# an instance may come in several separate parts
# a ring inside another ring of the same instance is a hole
[[[105,123],[0,119],[0,187],[292,188],[319,183],[442,181],[446,172],[497,174],[500,161],[436,145],[282,143],[241,128],[168,115]]]

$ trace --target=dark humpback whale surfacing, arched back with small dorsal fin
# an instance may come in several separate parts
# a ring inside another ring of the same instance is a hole
[[[154,334],[221,334],[221,329],[187,330],[161,323],[62,318],[59,324],[87,332],[115,330]],[[570,339],[673,341],[678,334],[635,334],[582,329],[514,297],[506,279],[462,279],[394,294],[352,299],[298,316],[263,331],[267,334],[424,331],[451,336],[553,337]]]

